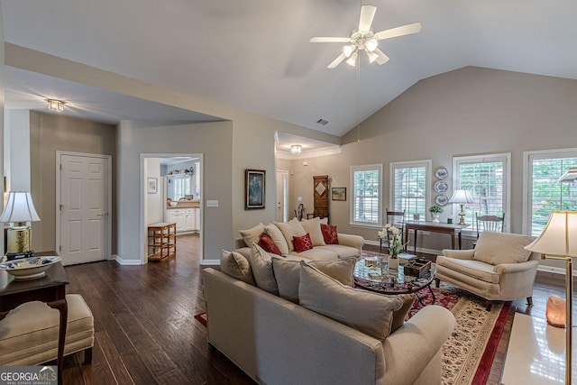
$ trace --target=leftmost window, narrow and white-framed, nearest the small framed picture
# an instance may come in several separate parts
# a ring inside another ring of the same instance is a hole
[[[382,165],[351,167],[351,225],[380,226]]]

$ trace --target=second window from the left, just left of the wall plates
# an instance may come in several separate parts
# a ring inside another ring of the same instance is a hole
[[[426,206],[430,197],[429,170],[431,160],[390,163],[390,211],[405,210],[405,219],[418,214],[426,218]]]

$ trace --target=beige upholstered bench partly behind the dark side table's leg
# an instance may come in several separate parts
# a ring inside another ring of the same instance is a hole
[[[66,296],[69,307],[64,355],[84,350],[92,362],[94,317],[79,294]],[[58,356],[59,311],[39,301],[16,307],[0,321],[0,366],[39,365]]]

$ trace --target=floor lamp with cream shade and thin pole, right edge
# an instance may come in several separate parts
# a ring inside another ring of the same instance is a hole
[[[526,247],[531,252],[540,252],[544,260],[565,261],[565,383],[571,382],[572,365],[572,294],[573,263],[577,257],[577,211],[554,211],[549,217],[543,233]]]

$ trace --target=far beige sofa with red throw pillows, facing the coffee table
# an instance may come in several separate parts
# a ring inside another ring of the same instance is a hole
[[[326,219],[326,218],[325,218]],[[269,225],[256,225],[247,230],[241,230],[242,238],[236,240],[236,252],[246,258],[251,255],[252,243],[259,243],[262,234],[270,236],[279,248],[281,256],[294,256],[308,261],[331,261],[334,258],[359,257],[362,255],[362,236],[353,234],[338,234],[338,244],[326,244],[321,231],[323,220],[313,219],[289,222],[273,222]],[[325,225],[325,224],[323,224]],[[309,234],[313,248],[304,252],[297,252],[292,241],[293,236]]]

